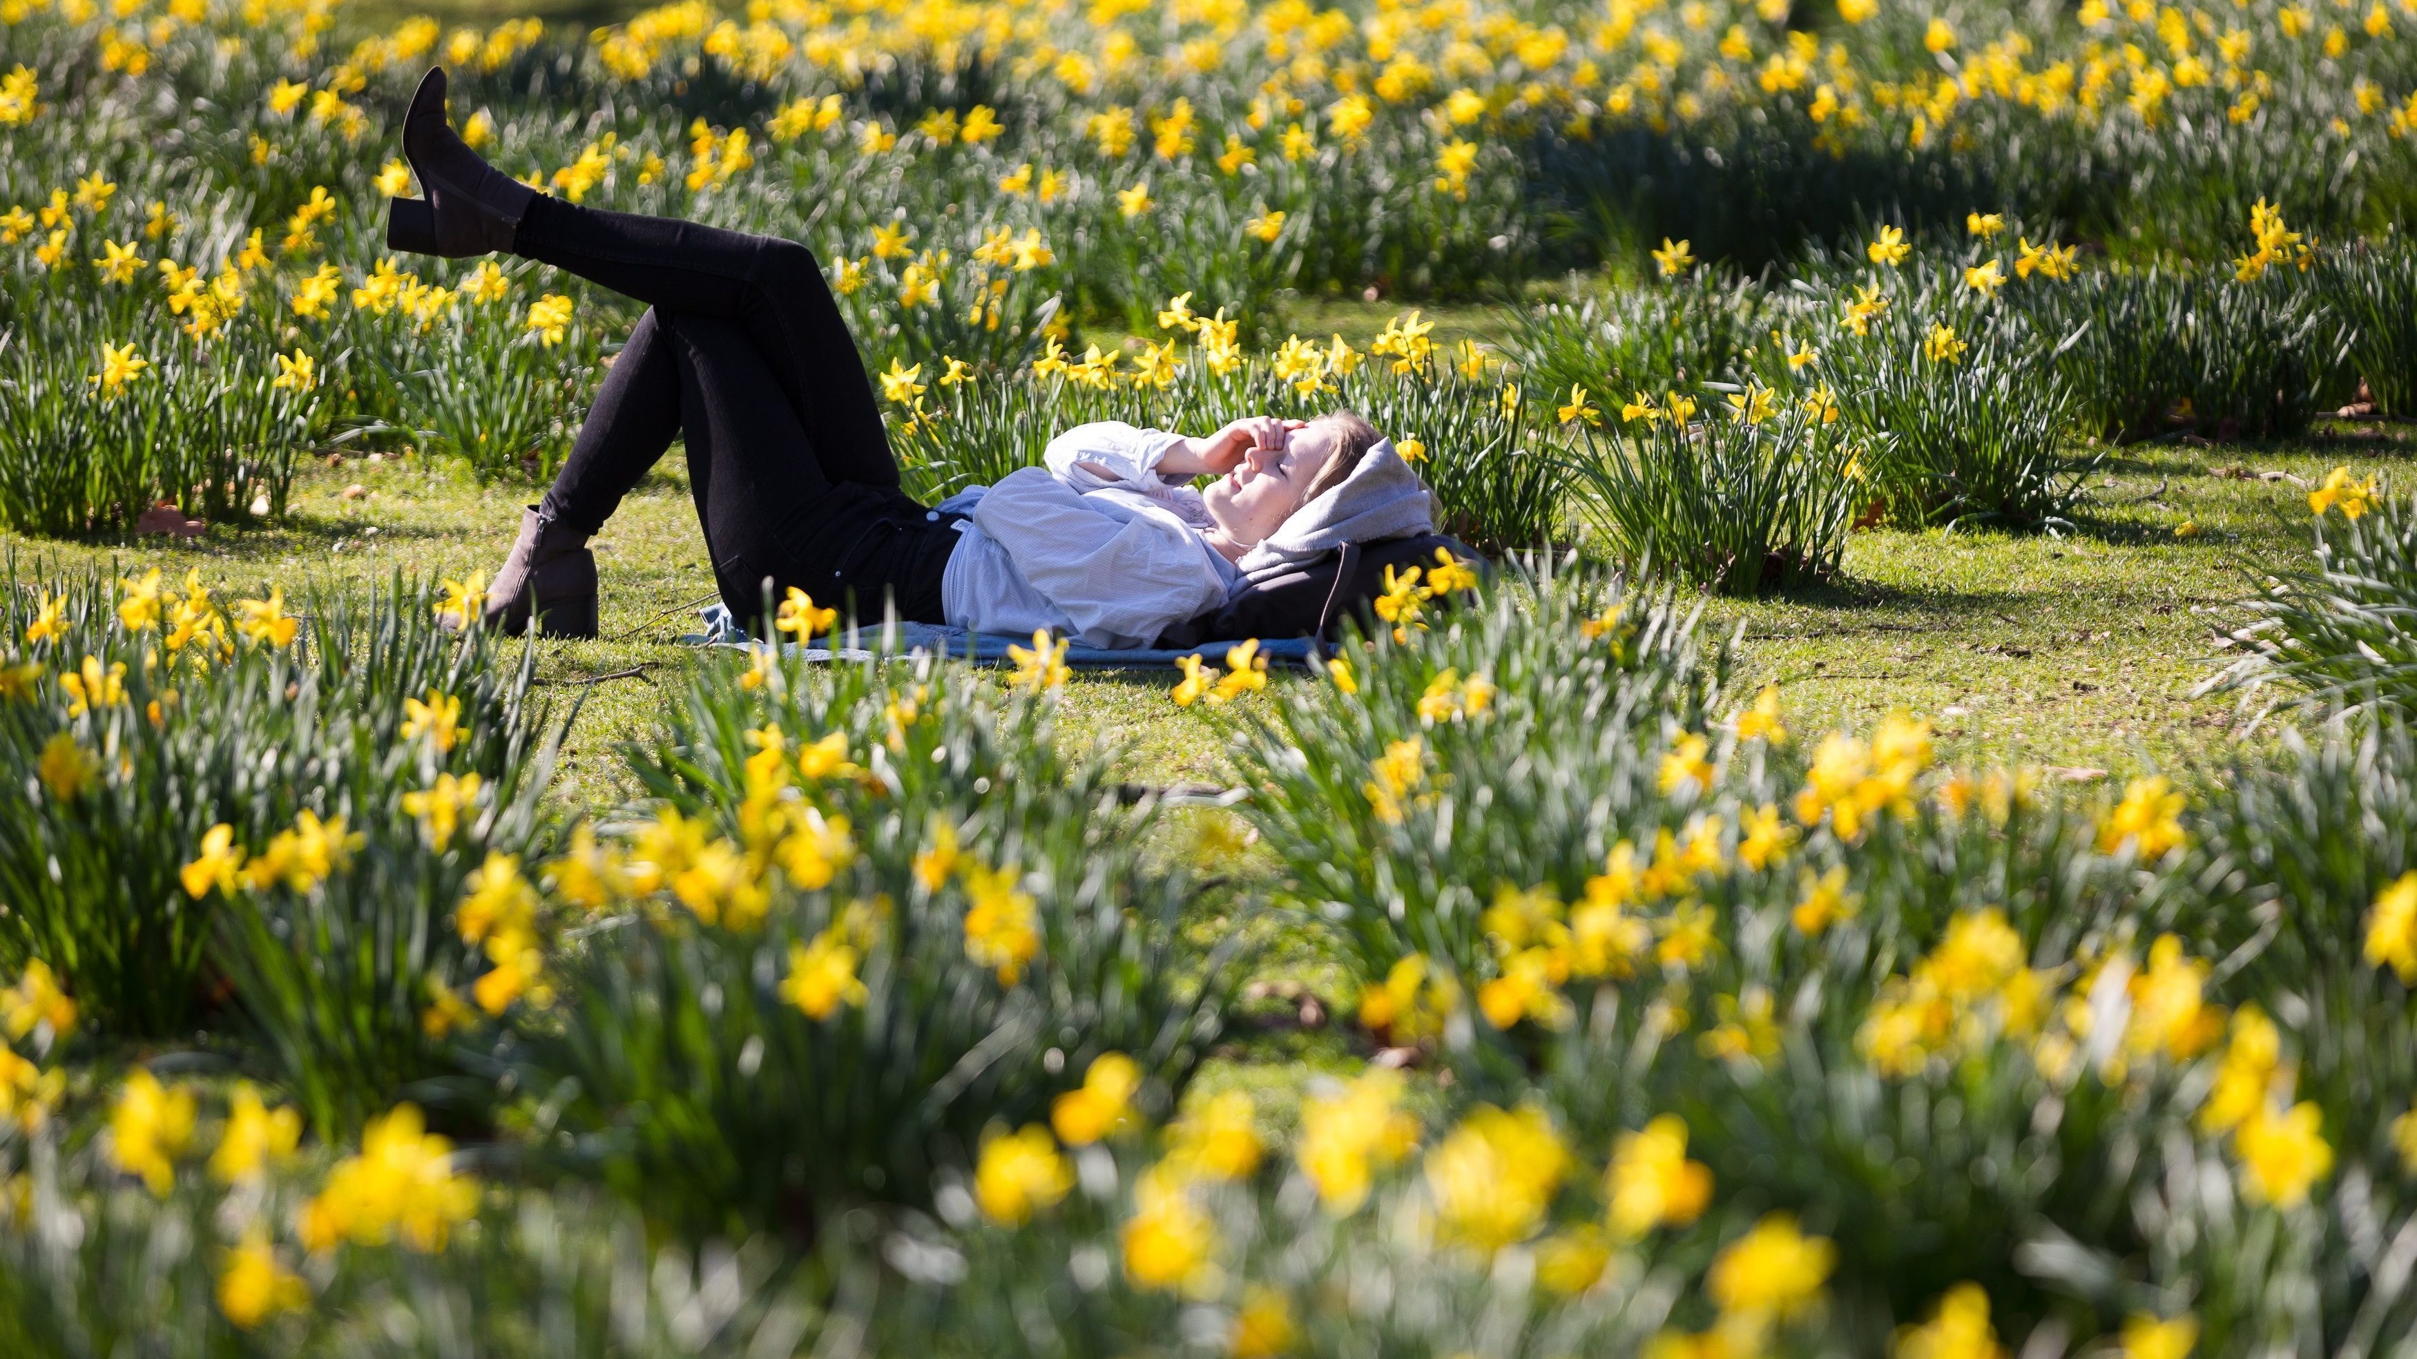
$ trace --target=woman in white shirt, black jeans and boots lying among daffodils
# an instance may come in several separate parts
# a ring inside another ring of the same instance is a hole
[[[546,634],[595,636],[587,537],[682,435],[713,578],[742,619],[769,585],[868,614],[887,600],[906,621],[1131,648],[1351,544],[1433,534],[1426,484],[1349,411],[1242,418],[1208,438],[1078,426],[1049,443],[1047,467],[921,505],[899,488],[873,382],[810,249],[517,184],[447,126],[442,70],[411,99],[404,155],[425,198],[389,203],[392,249],[510,251],[650,307],[522,517],[488,595],[493,626],[534,617]],[[1196,476],[1218,481],[1194,491]],[[1322,626],[1334,597],[1325,588],[1327,609],[1296,631]]]

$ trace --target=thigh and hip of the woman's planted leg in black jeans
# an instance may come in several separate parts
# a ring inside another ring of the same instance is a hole
[[[764,583],[880,617],[940,617],[940,573],[955,547],[943,517],[894,491],[834,481],[807,452],[754,336],[720,317],[657,312],[679,372],[689,488],[713,556],[713,580],[742,619],[764,609]]]

